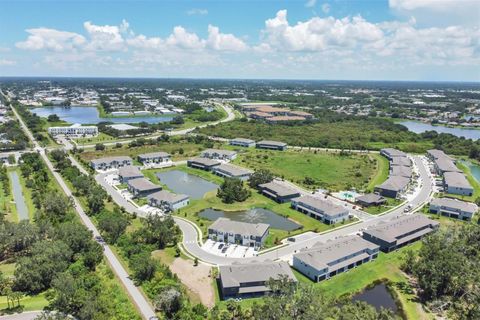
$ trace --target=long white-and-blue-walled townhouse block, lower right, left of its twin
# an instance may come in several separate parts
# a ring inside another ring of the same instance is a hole
[[[293,255],[293,267],[315,282],[329,279],[378,256],[379,245],[359,236],[317,243]]]

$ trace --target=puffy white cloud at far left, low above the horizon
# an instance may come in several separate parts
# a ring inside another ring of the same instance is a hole
[[[74,50],[83,46],[85,37],[74,32],[60,31],[49,28],[27,29],[27,40],[17,42],[15,46],[25,50]]]

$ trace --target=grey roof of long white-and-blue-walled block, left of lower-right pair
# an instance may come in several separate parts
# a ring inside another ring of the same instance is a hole
[[[349,236],[327,243],[316,243],[312,248],[293,256],[317,270],[328,268],[334,261],[363,250],[379,249],[379,246],[359,236]]]

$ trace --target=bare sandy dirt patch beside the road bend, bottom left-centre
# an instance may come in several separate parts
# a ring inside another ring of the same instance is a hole
[[[195,267],[191,260],[176,258],[170,265],[170,270],[177,274],[190,291],[198,295],[203,305],[208,308],[215,305],[215,291],[212,278],[209,277],[209,266],[200,263]]]

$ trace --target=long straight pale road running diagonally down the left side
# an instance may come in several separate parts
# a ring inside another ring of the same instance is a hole
[[[40,147],[40,145],[37,143],[37,141],[33,138],[33,135],[31,134],[30,130],[27,128],[25,123],[23,122],[22,118],[17,114],[16,110],[12,108],[13,112],[15,113],[15,116],[18,118],[20,121],[20,124],[23,128],[23,130],[26,132],[30,140],[33,142],[35,145],[35,149],[40,153],[42,156],[43,160],[47,164],[48,169],[52,172],[53,176],[57,180],[58,184],[60,187],[63,189],[65,194],[68,197],[71,197],[74,201],[75,209],[80,216],[80,219],[82,222],[85,224],[85,226],[92,232],[93,236],[95,238],[100,237],[100,233],[98,232],[97,228],[93,224],[93,222],[90,220],[90,218],[86,215],[84,212],[82,206],[78,202],[78,200],[73,196],[71,190],[68,188],[68,186],[65,184],[65,181],[63,178],[60,176],[58,172],[55,171],[53,164],[50,162],[50,159],[48,159],[47,155],[45,154],[45,150]],[[140,314],[144,319],[150,319],[152,317],[155,317],[155,311],[150,305],[150,303],[147,301],[147,299],[142,295],[140,290],[134,285],[133,281],[130,279],[127,271],[123,268],[122,264],[120,261],[117,259],[113,251],[110,249],[108,245],[103,244],[103,254],[105,258],[107,259],[108,263],[110,264],[113,272],[116,274],[116,276],[120,279],[122,285],[124,288],[127,290],[130,298],[132,301],[135,303],[137,306],[137,309],[139,310]]]

